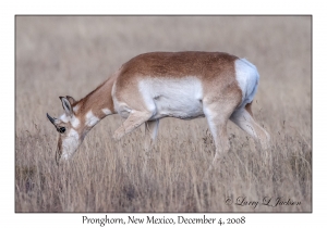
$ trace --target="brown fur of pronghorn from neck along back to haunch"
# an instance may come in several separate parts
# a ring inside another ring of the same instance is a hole
[[[242,92],[235,80],[234,61],[237,56],[223,52],[152,52],[137,55],[122,65],[121,69],[109,79],[98,86],[78,102],[71,103],[72,106],[80,105],[76,115],[85,114],[95,110],[94,114],[101,117],[101,109],[108,107],[114,113],[111,98],[112,85],[116,81],[119,100],[133,102],[142,99],[138,94],[137,83],[145,77],[198,77],[204,84],[204,93],[216,99],[221,97],[234,97]],[[211,88],[215,88],[213,90]],[[74,99],[69,99],[74,101]]]

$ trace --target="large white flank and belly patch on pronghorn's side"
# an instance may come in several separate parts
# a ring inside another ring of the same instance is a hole
[[[138,84],[140,92],[149,111],[150,119],[177,117],[182,119],[204,116],[203,89],[196,77],[147,78]]]

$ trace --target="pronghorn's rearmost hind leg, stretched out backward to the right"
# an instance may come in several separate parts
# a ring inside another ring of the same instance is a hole
[[[237,110],[230,117],[235,125],[251,135],[256,142],[259,142],[262,149],[266,150],[269,147],[269,134],[262,128],[253,118],[251,104],[245,105],[244,109]]]

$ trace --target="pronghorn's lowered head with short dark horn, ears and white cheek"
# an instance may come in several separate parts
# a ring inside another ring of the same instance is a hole
[[[56,151],[57,164],[59,164],[61,159],[69,160],[83,141],[81,137],[83,129],[74,111],[77,105],[73,107],[75,100],[69,96],[59,98],[62,102],[64,113],[59,118],[51,117],[47,113],[48,119],[55,125],[57,131],[60,134]]]

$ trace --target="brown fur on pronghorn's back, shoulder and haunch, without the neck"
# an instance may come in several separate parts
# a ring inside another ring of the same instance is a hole
[[[223,52],[152,52],[131,59],[122,65],[117,78],[117,99],[143,104],[138,80],[144,78],[181,78],[195,76],[201,79],[208,102],[216,99],[242,99],[234,72],[239,58]],[[215,88],[213,90],[213,88]],[[217,97],[218,96],[218,97]],[[134,106],[133,106],[134,107]],[[141,109],[144,106],[142,105]],[[134,109],[140,109],[135,106]]]

